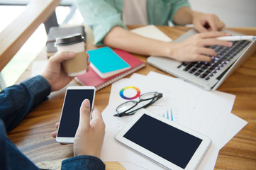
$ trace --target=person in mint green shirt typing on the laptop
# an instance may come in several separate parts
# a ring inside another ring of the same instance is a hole
[[[187,0],[75,0],[84,23],[94,32],[96,45],[107,45],[139,55],[169,57],[179,61],[211,61],[216,51],[209,45],[232,46],[217,40],[227,36],[225,24],[210,13],[192,11]],[[168,26],[194,24],[199,34],[183,42],[162,42],[130,32],[127,24]]]

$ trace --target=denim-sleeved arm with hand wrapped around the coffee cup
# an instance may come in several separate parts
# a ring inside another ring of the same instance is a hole
[[[33,108],[45,101],[51,91],[61,89],[74,79],[68,77],[61,66],[62,61],[74,56],[74,52],[57,53],[50,57],[41,76],[27,79],[0,92],[0,118],[7,131],[13,129]]]

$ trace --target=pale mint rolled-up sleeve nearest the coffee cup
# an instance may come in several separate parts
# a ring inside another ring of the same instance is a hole
[[[126,28],[121,20],[122,11],[111,6],[111,3],[104,0],[76,0],[75,2],[84,18],[84,24],[90,26],[94,32],[95,45],[104,45],[103,39],[113,27]],[[116,3],[113,4],[119,5]]]

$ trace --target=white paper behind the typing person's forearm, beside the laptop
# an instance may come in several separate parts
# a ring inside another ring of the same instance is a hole
[[[152,38],[155,40],[161,40],[165,42],[172,42],[171,38],[165,35],[165,33],[162,33],[162,31],[154,25],[135,28],[130,31],[132,31],[133,33],[137,33],[138,35],[142,35],[146,38]]]

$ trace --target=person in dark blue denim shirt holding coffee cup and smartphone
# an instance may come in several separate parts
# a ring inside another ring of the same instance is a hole
[[[45,101],[51,91],[66,86],[74,77],[68,77],[61,67],[63,60],[72,59],[74,52],[61,52],[50,57],[45,71],[21,84],[0,92],[0,169],[38,169],[9,140],[7,132],[21,122],[36,106]],[[89,64],[89,62],[88,62]],[[105,135],[105,124],[99,109],[94,107],[90,123],[89,100],[80,108],[80,120],[74,137],[74,157],[62,161],[62,169],[105,169],[99,159]],[[56,124],[58,126],[58,123]],[[56,137],[57,132],[52,132]]]

